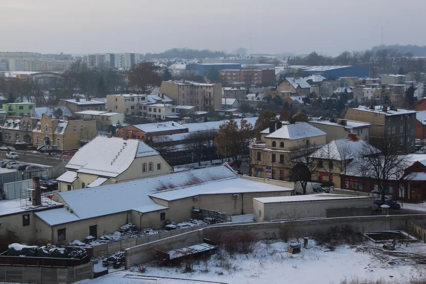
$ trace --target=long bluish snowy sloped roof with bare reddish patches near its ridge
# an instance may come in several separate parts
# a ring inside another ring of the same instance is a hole
[[[60,192],[62,200],[80,219],[93,218],[156,205],[148,194],[172,193],[182,188],[237,179],[226,166],[163,174],[162,176]],[[262,184],[264,186],[264,184]],[[194,192],[194,195],[197,195]],[[95,202],[94,202],[95,201]],[[138,211],[139,211],[138,210]]]

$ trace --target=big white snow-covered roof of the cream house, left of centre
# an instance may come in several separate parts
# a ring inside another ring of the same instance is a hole
[[[159,155],[156,150],[138,139],[98,136],[71,158],[66,168],[101,177],[117,177],[135,158]]]

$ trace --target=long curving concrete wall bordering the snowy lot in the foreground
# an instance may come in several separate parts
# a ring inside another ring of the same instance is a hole
[[[273,239],[297,236],[311,236],[317,232],[326,232],[333,226],[351,225],[354,230],[380,231],[406,229],[409,223],[425,222],[426,214],[418,215],[390,215],[390,216],[359,216],[359,217],[339,217],[327,219],[309,219],[298,221],[251,223],[240,225],[209,226],[193,232],[171,236],[158,241],[138,245],[125,249],[125,268],[130,269],[136,264],[152,261],[155,258],[153,253],[156,247],[167,250],[177,249],[185,246],[192,246],[203,242],[203,238],[215,233],[235,234],[238,232],[250,231],[258,233],[261,239]]]

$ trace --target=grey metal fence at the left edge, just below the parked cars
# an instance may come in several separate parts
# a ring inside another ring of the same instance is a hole
[[[60,165],[56,167],[46,167],[40,169],[23,170],[23,171],[12,171],[0,173],[0,187],[3,188],[3,184],[18,182],[24,180],[30,180],[34,177],[49,177],[49,179],[56,179],[62,173],[64,173],[65,166]]]

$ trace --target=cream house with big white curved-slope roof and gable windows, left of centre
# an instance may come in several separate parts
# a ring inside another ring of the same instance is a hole
[[[81,147],[56,180],[59,191],[95,187],[172,172],[160,154],[138,139],[98,136]]]

